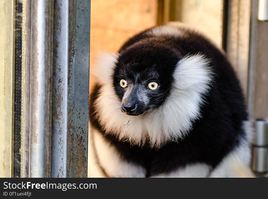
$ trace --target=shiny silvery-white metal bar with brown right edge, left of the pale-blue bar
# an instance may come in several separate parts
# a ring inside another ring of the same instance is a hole
[[[31,2],[30,177],[50,176],[53,1]]]

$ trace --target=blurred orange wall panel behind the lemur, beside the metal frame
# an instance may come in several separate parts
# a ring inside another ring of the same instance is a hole
[[[93,0],[90,19],[90,70],[101,52],[117,52],[134,34],[157,24],[158,0]],[[90,74],[90,91],[94,77]]]

